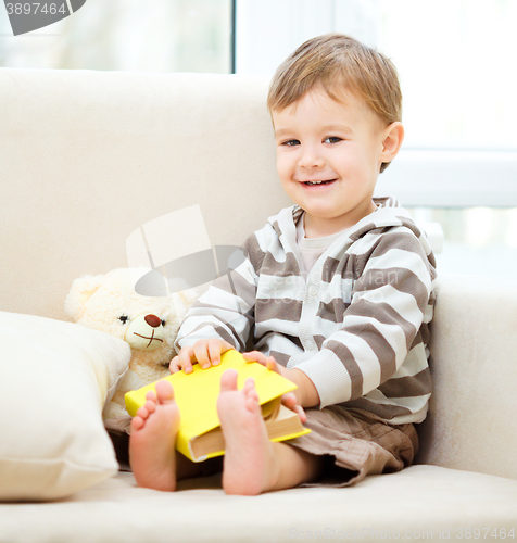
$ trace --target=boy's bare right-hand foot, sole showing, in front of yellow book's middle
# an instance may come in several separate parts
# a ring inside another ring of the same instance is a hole
[[[270,490],[278,477],[253,379],[237,390],[237,371],[220,378],[217,413],[225,435],[223,489],[227,494],[256,495]]]

